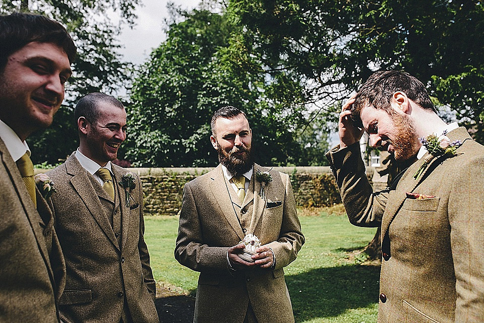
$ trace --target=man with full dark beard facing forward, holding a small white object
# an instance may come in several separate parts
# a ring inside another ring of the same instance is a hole
[[[194,322],[294,322],[283,267],[304,236],[289,177],[254,163],[240,110],[222,107],[211,127],[220,165],[185,185],[175,247],[200,272]],[[252,234],[261,246],[244,260],[241,240]]]

